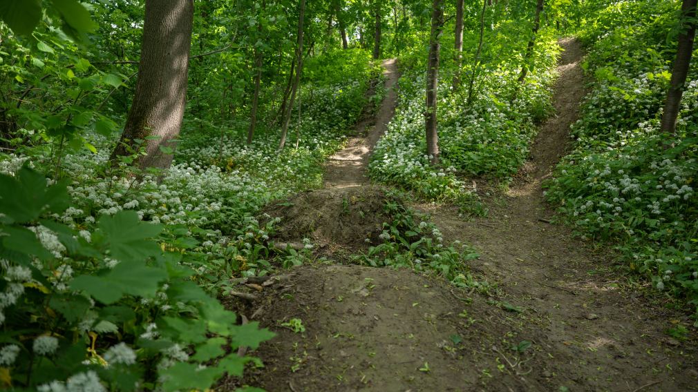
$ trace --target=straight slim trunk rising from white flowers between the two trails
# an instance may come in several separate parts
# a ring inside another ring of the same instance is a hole
[[[438,133],[436,132],[436,101],[438,99],[438,66],[441,50],[440,36],[443,29],[443,0],[433,0],[431,36],[429,38],[429,63],[426,68],[426,154],[432,165],[438,165]]]

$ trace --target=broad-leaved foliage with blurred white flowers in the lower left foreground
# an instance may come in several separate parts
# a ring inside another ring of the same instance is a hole
[[[192,282],[192,256],[163,250],[186,237],[163,237],[161,225],[133,211],[76,232],[54,218],[71,204],[64,183],[47,186],[27,167],[0,174],[0,183],[0,342],[16,347],[3,357],[13,386],[207,389],[253,361],[236,347],[274,336],[235,324]],[[17,195],[27,195],[21,208],[13,208]]]

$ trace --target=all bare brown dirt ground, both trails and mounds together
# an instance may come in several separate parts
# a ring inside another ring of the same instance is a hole
[[[258,288],[253,303],[230,300],[278,333],[253,353],[265,368],[249,372],[247,384],[291,392],[698,390],[695,339],[665,332],[688,322],[685,314],[629,285],[613,252],[549,223],[541,181],[567,149],[585,92],[579,43],[560,45],[557,115],[540,127],[517,180],[486,201],[489,215],[468,220],[453,206],[413,204],[447,240],[475,247],[481,257],[471,262],[473,275],[491,289],[468,292],[404,269],[291,269]],[[387,86],[395,86],[394,63],[385,67]],[[369,137],[350,140],[332,158],[326,189],[276,211],[295,214],[296,222],[306,216],[302,224],[319,231],[334,227],[325,234],[348,241],[348,249],[360,243],[349,240],[370,237],[380,216],[369,215],[379,215],[383,194],[366,184],[363,170],[395,100],[389,89]],[[369,222],[357,225],[364,217]],[[330,239],[320,248],[336,255]]]

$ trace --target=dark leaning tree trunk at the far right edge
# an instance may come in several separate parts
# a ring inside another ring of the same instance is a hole
[[[681,110],[683,85],[691,63],[693,40],[696,35],[696,3],[697,0],[683,0],[681,6],[681,18],[685,18],[685,22],[682,21],[681,33],[678,36],[676,59],[674,59],[674,69],[671,71],[671,82],[669,82],[667,100],[664,103],[661,125],[662,133],[671,137],[676,136],[676,118]],[[669,144],[666,146],[668,147]]]

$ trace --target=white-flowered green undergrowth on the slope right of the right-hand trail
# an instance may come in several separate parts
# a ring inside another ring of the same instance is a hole
[[[695,61],[676,137],[659,128],[676,9],[675,1],[615,3],[581,32],[590,45],[584,68],[591,91],[572,128],[574,151],[556,168],[547,198],[579,235],[609,241],[632,271],[679,304],[688,301],[685,310],[698,316]]]

